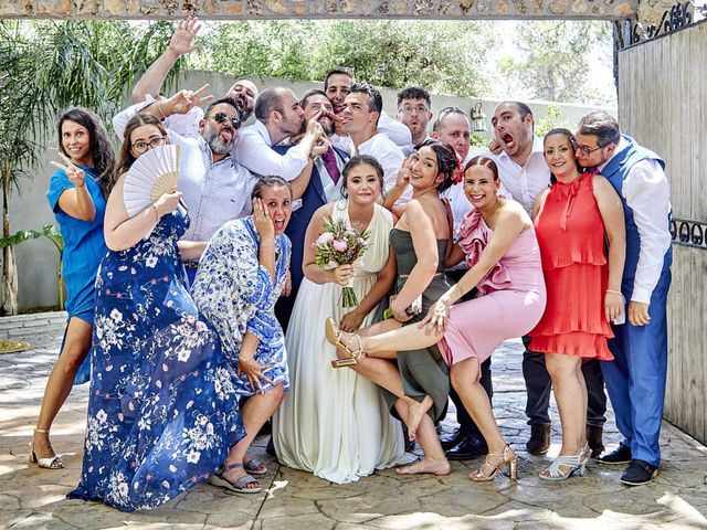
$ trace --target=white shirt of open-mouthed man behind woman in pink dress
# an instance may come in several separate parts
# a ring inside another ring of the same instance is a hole
[[[545,161],[542,139],[534,137],[532,151],[524,166],[515,162],[506,151],[494,155],[486,149],[483,156],[496,162],[498,176],[507,192],[531,214],[536,197],[550,186],[550,169]]]

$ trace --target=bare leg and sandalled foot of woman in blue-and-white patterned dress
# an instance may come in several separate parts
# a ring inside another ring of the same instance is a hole
[[[285,399],[286,394],[283,391],[283,383],[271,389],[264,394],[255,394],[250,398],[243,407],[241,414],[243,415],[243,426],[245,427],[245,437],[235,444],[229,451],[229,456],[225,459],[224,465],[230,464],[243,464],[245,454],[251,447],[253,439],[257,436],[263,424],[273,415],[279,404]],[[229,481],[235,481],[246,474],[243,468],[234,468],[225,471],[223,477]],[[258,483],[252,483],[246,488],[260,488]]]

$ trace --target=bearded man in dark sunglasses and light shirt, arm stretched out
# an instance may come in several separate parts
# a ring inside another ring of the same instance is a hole
[[[202,96],[208,86],[197,92],[181,91],[165,100],[134,105],[113,118],[114,130],[122,136],[128,120],[138,113],[151,114],[162,121],[187,114],[211,98]],[[251,213],[250,195],[256,178],[231,157],[240,126],[236,103],[222,98],[205,108],[197,138],[186,138],[167,129],[169,142],[181,147],[178,188],[190,218],[181,241],[193,242],[190,246],[194,247],[194,255],[200,255],[223,223]],[[184,262],[190,282],[198,263],[198,257]]]

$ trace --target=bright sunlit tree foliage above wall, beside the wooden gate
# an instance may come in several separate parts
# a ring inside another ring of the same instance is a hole
[[[520,22],[514,44],[519,56],[504,57],[498,68],[511,86],[531,99],[602,105],[591,83],[591,65],[611,59],[609,22]]]

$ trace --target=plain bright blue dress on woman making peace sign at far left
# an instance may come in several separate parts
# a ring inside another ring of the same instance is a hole
[[[73,190],[74,184],[63,170],[57,170],[49,184],[46,199],[54,212],[59,232],[64,240],[64,253],[62,256],[62,276],[66,284],[65,308],[68,320],[72,317],[93,324],[94,310],[94,284],[101,259],[105,256],[107,248],[103,237],[103,218],[106,213],[106,200],[103,190],[96,182],[97,176],[93,169],[85,166],[77,166],[86,172],[85,186],[93,200],[96,215],[93,221],[83,221],[72,218],[59,205],[59,198],[66,190]],[[64,332],[64,339],[66,333]],[[61,349],[64,349],[62,341]],[[82,363],[74,383],[81,384],[88,381],[91,374],[91,354]]]

